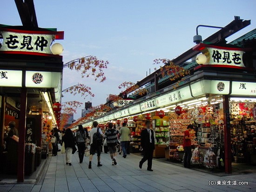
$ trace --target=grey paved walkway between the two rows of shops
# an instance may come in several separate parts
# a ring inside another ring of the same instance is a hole
[[[141,157],[118,156],[118,165],[112,166],[108,154],[102,154],[102,167],[88,169],[88,157],[79,164],[78,154],[73,156],[73,165],[67,166],[65,154],[49,159],[45,177],[34,184],[0,185],[0,192],[252,192],[256,191],[256,173],[216,176],[153,160],[154,172],[146,165],[138,167]],[[215,186],[209,185],[212,181]],[[236,184],[248,181],[249,185],[217,185],[217,182]]]

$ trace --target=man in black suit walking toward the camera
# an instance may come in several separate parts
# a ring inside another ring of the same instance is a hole
[[[153,152],[155,150],[155,137],[153,130],[150,129],[151,122],[146,121],[146,129],[141,131],[141,147],[144,152],[144,157],[140,161],[140,168],[145,161],[148,160],[148,171],[153,172],[152,170],[152,159]]]

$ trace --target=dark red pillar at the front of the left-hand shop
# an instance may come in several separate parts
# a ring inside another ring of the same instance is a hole
[[[19,146],[18,146],[18,171],[17,181],[24,182],[24,161],[25,161],[25,136],[26,136],[26,115],[27,114],[27,88],[21,88],[20,94],[20,121],[19,121]]]

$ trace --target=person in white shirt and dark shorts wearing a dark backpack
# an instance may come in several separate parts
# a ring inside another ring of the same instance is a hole
[[[103,141],[103,133],[100,128],[98,128],[98,122],[93,122],[93,128],[89,132],[89,138],[90,138],[90,157],[89,157],[89,166],[88,168],[92,168],[92,160],[95,152],[97,152],[98,157],[98,165],[101,165],[101,147],[102,147],[102,141]]]

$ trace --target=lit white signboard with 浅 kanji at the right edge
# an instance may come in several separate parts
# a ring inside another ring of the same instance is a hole
[[[233,81],[232,95],[256,96],[256,83]]]

